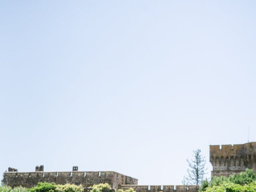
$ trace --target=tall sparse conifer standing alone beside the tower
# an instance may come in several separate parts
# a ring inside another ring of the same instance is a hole
[[[206,160],[205,157],[201,155],[201,150],[193,150],[193,153],[193,159],[190,161],[187,159],[189,168],[187,170],[188,175],[184,176],[184,179],[182,181],[184,185],[201,184],[204,179],[204,175],[206,174],[206,169],[204,168]]]

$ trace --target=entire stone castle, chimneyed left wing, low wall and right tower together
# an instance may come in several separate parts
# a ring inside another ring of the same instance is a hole
[[[229,176],[238,174],[246,168],[256,172],[256,142],[240,145],[210,146],[210,162],[213,166],[212,176]],[[33,187],[38,182],[54,182],[56,184],[76,184],[88,188],[93,184],[108,183],[113,189],[134,188],[136,192],[198,192],[198,186],[138,185],[138,179],[113,171],[84,172],[74,166],[71,172],[44,172],[44,166],[36,166],[35,172],[18,172],[8,168],[4,173],[3,184],[11,187]]]

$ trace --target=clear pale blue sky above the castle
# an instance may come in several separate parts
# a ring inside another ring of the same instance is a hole
[[[78,166],[178,185],[198,148],[210,177],[209,145],[256,141],[255,10],[1,0],[0,179]]]

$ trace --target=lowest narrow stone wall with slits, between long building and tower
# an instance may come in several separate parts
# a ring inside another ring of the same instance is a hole
[[[133,188],[136,192],[198,192],[198,185],[121,185],[120,189],[127,190]]]

